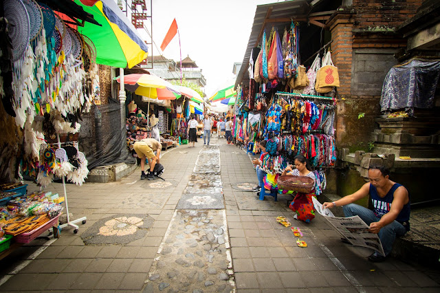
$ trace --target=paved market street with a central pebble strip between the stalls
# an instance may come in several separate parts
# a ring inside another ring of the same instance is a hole
[[[287,207],[291,195],[261,202],[244,191],[256,184],[252,163],[224,138],[170,149],[161,164],[165,181],[140,180],[138,168],[120,182],[67,184],[69,212],[74,219],[86,216],[87,223],[78,234],[65,229],[50,246],[36,239],[3,259],[0,290],[440,290],[412,265],[396,259],[370,263],[369,250],[342,244],[319,215],[311,224],[294,220]],[[30,184],[28,191],[35,188]],[[46,190],[63,193],[56,183]],[[281,215],[303,231],[307,248],[296,246],[290,228],[276,222]]]

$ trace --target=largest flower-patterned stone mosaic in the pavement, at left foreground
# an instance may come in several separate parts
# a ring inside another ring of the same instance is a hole
[[[96,221],[81,235],[89,244],[127,244],[146,236],[154,219],[148,215],[113,215]]]

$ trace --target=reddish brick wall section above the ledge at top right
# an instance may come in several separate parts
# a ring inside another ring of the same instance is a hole
[[[353,0],[355,26],[393,28],[413,17],[421,3],[422,0]]]

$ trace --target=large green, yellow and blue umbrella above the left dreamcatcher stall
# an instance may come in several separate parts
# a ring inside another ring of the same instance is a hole
[[[131,68],[148,56],[148,47],[142,41],[142,36],[114,0],[74,1],[102,25],[85,22],[83,27],[76,28],[94,43],[96,63]]]

